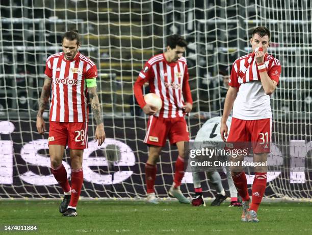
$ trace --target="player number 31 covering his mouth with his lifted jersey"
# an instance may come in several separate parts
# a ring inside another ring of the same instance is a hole
[[[227,142],[234,143],[226,145],[230,148],[235,146],[236,142],[251,142],[253,161],[265,163],[270,153],[272,133],[270,95],[278,84],[281,65],[278,59],[267,54],[270,45],[270,31],[267,28],[255,28],[250,44],[252,53],[238,58],[233,63],[220,134],[224,141],[227,137]],[[232,122],[227,136],[226,120],[232,108]],[[232,158],[232,162],[241,162],[243,159],[243,156],[239,156]],[[248,195],[243,167],[231,167],[231,172],[238,193],[243,199],[241,220],[259,222],[257,210],[266,190],[267,166],[255,166],[251,198]]]

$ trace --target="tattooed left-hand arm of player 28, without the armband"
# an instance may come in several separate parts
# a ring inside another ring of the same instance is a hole
[[[36,124],[39,134],[42,134],[42,135],[44,134],[44,131],[45,131],[45,124],[44,124],[44,120],[42,117],[42,113],[44,112],[46,104],[49,102],[49,96],[51,92],[51,83],[52,83],[51,78],[45,76],[44,84],[43,84],[42,91],[41,91],[41,96],[39,99],[39,110],[37,113],[37,124]]]

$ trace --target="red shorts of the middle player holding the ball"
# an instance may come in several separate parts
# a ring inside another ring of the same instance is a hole
[[[163,117],[149,116],[144,143],[165,146],[167,136],[171,145],[180,141],[189,141],[189,130],[185,118],[164,119]]]

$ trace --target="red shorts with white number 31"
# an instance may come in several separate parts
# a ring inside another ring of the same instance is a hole
[[[270,153],[271,134],[271,119],[241,120],[232,117],[226,142],[251,142],[253,153]]]

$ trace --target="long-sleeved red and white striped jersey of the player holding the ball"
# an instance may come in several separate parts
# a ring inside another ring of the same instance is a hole
[[[150,58],[141,70],[134,85],[135,97],[143,108],[146,103],[142,87],[149,83],[150,92],[156,93],[163,101],[161,110],[156,116],[171,118],[184,116],[184,97],[186,102],[193,103],[189,85],[189,72],[186,59],[181,57],[176,62],[169,63],[164,54]]]

